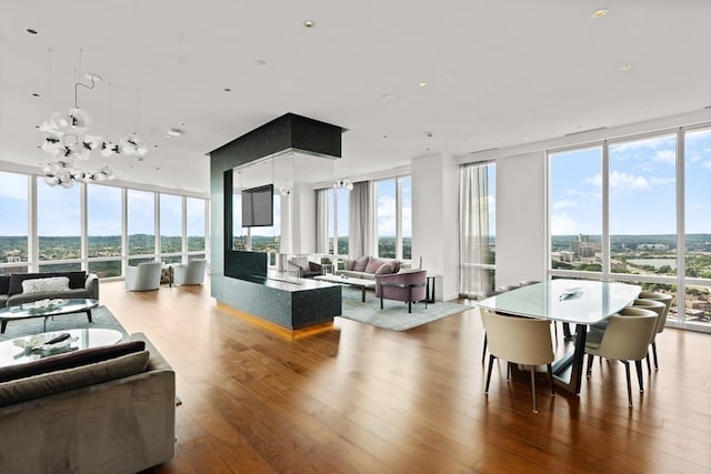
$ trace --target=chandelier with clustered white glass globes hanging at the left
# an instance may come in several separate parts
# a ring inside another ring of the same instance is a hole
[[[90,183],[113,180],[116,174],[109,167],[84,171],[77,164],[78,161],[89,160],[91,151],[97,149],[104,158],[109,158],[112,154],[124,154],[142,159],[148,154],[148,145],[136,132],[119,140],[118,144],[109,139],[104,140],[102,137],[87,133],[91,124],[91,117],[86,110],[79,108],[78,89],[80,85],[93,89],[101,78],[92,73],[84,74],[84,78],[91,83],[74,83],[73,109],[69,109],[67,113],[50,113],[49,119],[44,120],[39,127],[40,132],[44,135],[44,141],[40,148],[52,158],[52,161],[42,168],[44,182],[50,186],[71,188],[77,181]]]

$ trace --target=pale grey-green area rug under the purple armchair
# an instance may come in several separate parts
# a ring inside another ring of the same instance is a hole
[[[343,288],[342,315],[347,320],[371,324],[391,331],[407,331],[442,317],[451,316],[463,311],[471,310],[464,304],[438,301],[434,304],[417,303],[412,305],[412,313],[408,313],[408,304],[401,301],[383,300],[383,309],[380,309],[380,299],[372,291],[365,292],[365,302],[361,302],[361,291]]]

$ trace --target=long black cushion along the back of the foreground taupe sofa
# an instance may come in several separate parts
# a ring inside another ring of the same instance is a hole
[[[141,352],[146,349],[143,341],[129,341],[118,344],[102,345],[99,347],[82,349],[80,351],[68,352],[53,355],[51,357],[38,359],[24,364],[8,365],[0,367],[0,383],[16,379],[23,379],[47,372],[73,369],[80,365],[93,364],[107,361],[121,355]]]

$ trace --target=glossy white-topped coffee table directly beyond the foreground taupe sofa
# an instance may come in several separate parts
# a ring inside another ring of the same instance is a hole
[[[13,341],[27,340],[29,335],[16,337],[10,341],[0,342],[0,366],[22,364],[38,359],[49,357],[51,355],[63,354],[66,352],[78,351],[80,349],[99,347],[100,345],[111,345],[123,339],[123,334],[116,330],[107,330],[101,327],[91,327],[83,330],[56,331],[51,333],[42,333],[39,335],[59,335],[69,333],[71,337],[78,337],[77,341],[63,347],[52,350],[27,350],[14,345]]]

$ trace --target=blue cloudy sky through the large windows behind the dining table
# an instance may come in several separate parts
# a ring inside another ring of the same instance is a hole
[[[711,130],[688,132],[685,233],[711,233]],[[674,234],[674,134],[609,147],[611,234]],[[601,234],[602,148],[553,153],[550,163],[551,234]]]

